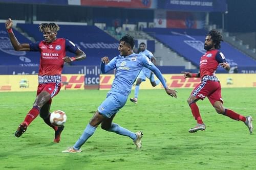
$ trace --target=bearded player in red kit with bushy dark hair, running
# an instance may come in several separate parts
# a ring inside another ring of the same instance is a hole
[[[207,97],[212,106],[219,114],[223,114],[235,120],[241,120],[248,127],[249,132],[252,133],[252,117],[243,116],[230,109],[226,109],[223,106],[223,100],[221,98],[221,84],[215,75],[215,71],[220,65],[226,70],[230,69],[225,56],[218,49],[221,47],[222,35],[217,30],[211,30],[206,35],[204,41],[204,49],[206,53],[200,59],[200,72],[197,74],[191,74],[190,72],[182,71],[184,78],[201,78],[201,83],[195,87],[189,96],[187,102],[191,108],[191,112],[197,120],[197,125],[194,128],[189,129],[188,132],[193,133],[198,130],[205,130],[206,126],[203,123],[199,108],[196,104],[198,100],[204,100]]]

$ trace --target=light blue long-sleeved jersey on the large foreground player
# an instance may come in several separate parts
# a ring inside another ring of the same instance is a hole
[[[101,62],[101,72],[104,74],[116,68],[115,79],[112,83],[111,91],[128,96],[131,93],[133,83],[143,67],[151,69],[158,79],[166,87],[164,78],[159,69],[142,54],[131,54],[129,56],[116,56],[108,64]]]

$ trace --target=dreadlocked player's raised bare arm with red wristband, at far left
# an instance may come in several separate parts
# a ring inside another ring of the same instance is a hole
[[[12,32],[12,19],[9,18],[8,20],[6,20],[5,22],[5,27],[7,29],[7,32],[9,34],[12,46],[14,48],[15,51],[30,51],[30,47],[28,43],[22,43],[20,44],[17,40],[17,38],[15,37],[14,33]]]

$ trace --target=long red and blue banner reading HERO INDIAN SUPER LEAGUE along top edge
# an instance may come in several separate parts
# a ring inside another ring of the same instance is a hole
[[[226,0],[69,0],[69,5],[153,8],[174,11],[225,12]]]

